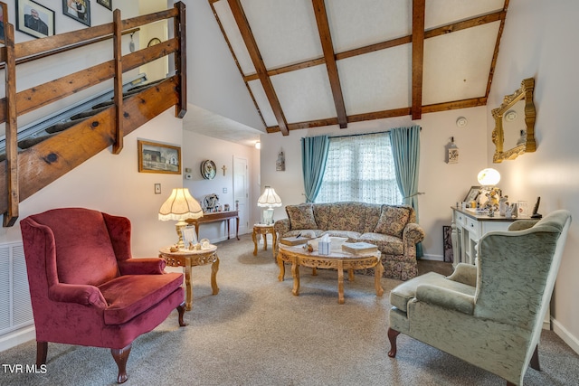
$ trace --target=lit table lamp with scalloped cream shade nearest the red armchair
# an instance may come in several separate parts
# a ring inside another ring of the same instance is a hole
[[[177,221],[176,232],[179,236],[177,246],[180,249],[184,248],[181,230],[187,226],[185,220],[198,219],[200,217],[203,217],[203,209],[201,209],[201,205],[193,198],[187,188],[173,189],[169,198],[166,199],[166,202],[163,202],[161,209],[159,209],[160,221]]]

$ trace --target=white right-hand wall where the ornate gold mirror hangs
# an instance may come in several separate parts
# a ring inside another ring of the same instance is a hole
[[[488,115],[504,95],[518,89],[521,80],[535,78],[536,152],[494,167],[502,175],[500,185],[509,197],[533,204],[540,196],[539,212],[543,214],[556,209],[572,212],[574,222],[555,284],[552,315],[555,332],[579,352],[579,259],[575,257],[579,249],[579,131],[575,117],[579,52],[569,45],[570,37],[579,35],[577,14],[579,3],[573,0],[510,1]],[[492,128],[489,119],[488,138]],[[489,163],[494,152],[491,145]]]

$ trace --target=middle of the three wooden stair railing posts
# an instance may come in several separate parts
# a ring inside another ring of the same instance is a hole
[[[115,101],[115,143],[112,153],[118,155],[123,149],[123,52],[122,52],[122,27],[119,8],[113,12],[113,51],[115,61],[114,101]]]

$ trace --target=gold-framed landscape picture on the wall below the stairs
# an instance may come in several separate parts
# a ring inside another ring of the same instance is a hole
[[[181,174],[181,147],[138,140],[138,172]]]

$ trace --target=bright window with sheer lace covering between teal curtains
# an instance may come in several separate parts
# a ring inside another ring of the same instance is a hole
[[[316,202],[401,204],[387,133],[330,137],[326,172]]]

